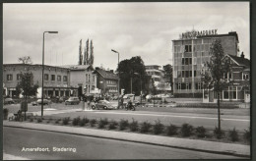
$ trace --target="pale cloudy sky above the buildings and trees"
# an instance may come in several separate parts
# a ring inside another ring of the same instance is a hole
[[[3,3],[3,64],[77,65],[79,45],[93,40],[94,67],[115,70],[141,56],[145,65],[172,64],[172,40],[192,30],[236,31],[250,59],[249,2]]]

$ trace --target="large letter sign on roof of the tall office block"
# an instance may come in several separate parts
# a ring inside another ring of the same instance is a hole
[[[180,39],[191,39],[201,35],[216,35],[217,29],[201,30],[201,31],[187,31],[179,35]]]

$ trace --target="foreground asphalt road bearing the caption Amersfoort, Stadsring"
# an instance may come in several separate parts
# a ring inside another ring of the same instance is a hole
[[[183,150],[143,143],[96,138],[76,134],[60,134],[17,128],[3,128],[3,152],[32,160],[75,159],[239,159],[193,150]],[[25,151],[26,148],[48,151]],[[68,151],[53,151],[69,148]],[[56,149],[55,148],[55,149]]]

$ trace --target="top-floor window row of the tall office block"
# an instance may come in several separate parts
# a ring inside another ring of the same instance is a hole
[[[211,44],[193,45],[194,51],[210,51]],[[175,45],[174,53],[192,52],[192,45]]]

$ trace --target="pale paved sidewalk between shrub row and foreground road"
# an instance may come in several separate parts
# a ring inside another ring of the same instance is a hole
[[[64,134],[79,134],[87,135],[108,139],[125,140],[132,142],[148,143],[160,146],[175,147],[189,150],[196,150],[201,152],[210,152],[217,154],[227,154],[241,157],[250,156],[250,146],[234,143],[223,143],[206,141],[199,139],[187,139],[187,138],[176,138],[160,135],[151,134],[132,134],[124,132],[114,132],[114,131],[102,131],[78,127],[65,127],[65,126],[54,126],[54,125],[43,125],[25,122],[3,122],[4,127],[17,127],[25,129],[33,129],[40,131],[57,132]]]

